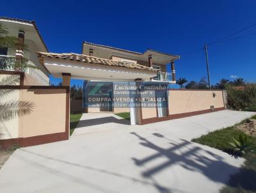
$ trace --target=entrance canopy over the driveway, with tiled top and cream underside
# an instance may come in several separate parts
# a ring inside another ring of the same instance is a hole
[[[38,58],[54,77],[62,77],[63,86],[70,86],[70,79],[141,82],[157,75],[157,70],[147,66],[83,54],[38,52]],[[139,111],[139,108],[130,109],[131,124],[141,120],[141,114],[136,111]]]

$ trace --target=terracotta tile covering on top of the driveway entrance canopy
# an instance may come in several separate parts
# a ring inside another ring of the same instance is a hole
[[[92,63],[97,65],[108,65],[108,66],[119,66],[124,68],[132,68],[137,70],[148,70],[152,72],[157,72],[154,68],[149,68],[147,66],[138,65],[136,63],[129,63],[124,61],[115,61],[112,59],[97,58],[95,56],[86,56],[84,54],[75,53],[52,53],[52,52],[37,52],[38,57],[41,58],[40,62],[44,65],[42,58],[57,58],[57,59],[68,59],[71,61],[79,61],[84,63]]]

